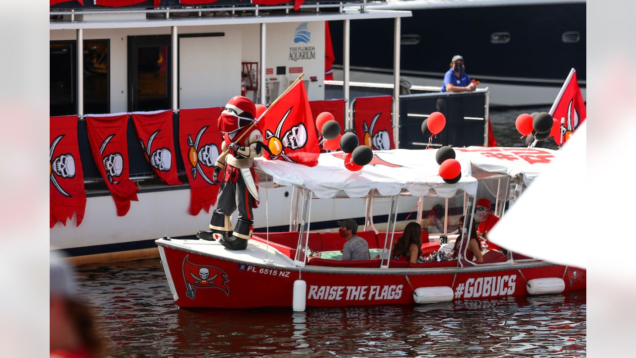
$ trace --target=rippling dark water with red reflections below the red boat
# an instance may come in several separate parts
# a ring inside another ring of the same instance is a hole
[[[585,292],[426,306],[184,310],[158,259],[79,266],[111,357],[577,357]],[[254,294],[258,299],[258,293]]]

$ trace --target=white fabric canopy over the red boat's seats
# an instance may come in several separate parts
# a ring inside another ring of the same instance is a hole
[[[484,173],[517,176],[529,184],[554,157],[553,150],[543,148],[455,148],[457,161],[462,166],[462,177],[448,184],[438,175],[435,161],[437,150],[375,150],[373,159],[360,171],[349,171],[344,165],[343,152],[321,154],[317,166],[308,167],[287,161],[257,158],[259,173],[271,176],[261,178],[277,185],[291,185],[314,192],[327,199],[340,196],[368,196],[377,190],[381,196],[396,196],[408,192],[411,196],[453,197],[457,190],[477,194],[477,180]]]

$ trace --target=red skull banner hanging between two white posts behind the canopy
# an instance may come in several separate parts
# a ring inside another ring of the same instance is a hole
[[[354,104],[354,129],[360,144],[373,150],[395,149],[391,124],[393,97],[357,97]]]

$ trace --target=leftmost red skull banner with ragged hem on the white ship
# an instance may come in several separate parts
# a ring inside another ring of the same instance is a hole
[[[79,159],[78,116],[50,117],[50,227],[77,213],[77,226],[81,224],[86,209],[84,173]]]

